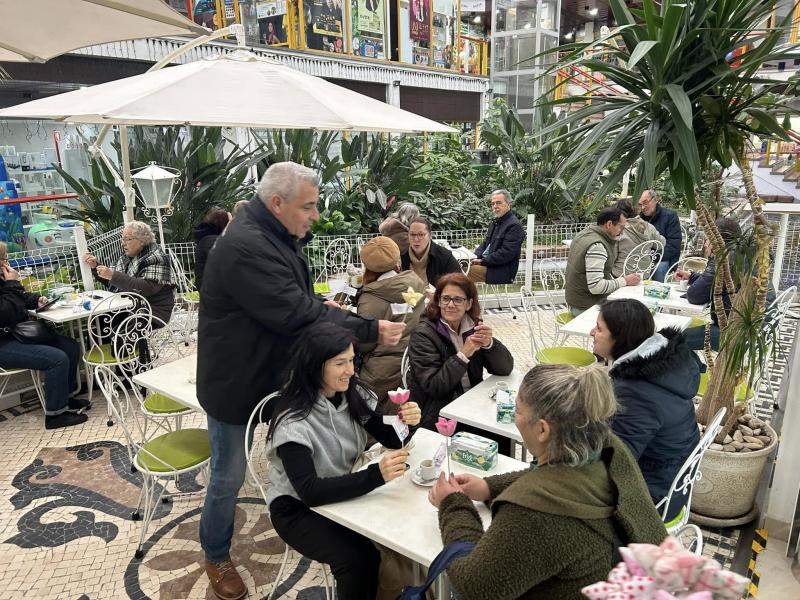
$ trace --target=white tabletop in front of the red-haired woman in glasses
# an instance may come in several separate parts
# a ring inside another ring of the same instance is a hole
[[[497,422],[497,404],[489,397],[489,392],[498,381],[508,382],[508,387],[519,389],[523,374],[512,371],[510,375],[490,375],[474,388],[453,400],[439,411],[439,414],[448,419],[456,419],[459,423],[472,425],[484,431],[491,431],[514,441],[521,442],[517,426]]]

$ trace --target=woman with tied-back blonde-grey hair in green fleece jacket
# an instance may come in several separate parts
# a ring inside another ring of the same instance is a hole
[[[538,365],[516,405],[535,467],[486,479],[440,476],[429,498],[442,541],[476,544],[447,569],[461,600],[578,600],[582,587],[605,580],[615,543],[666,537],[636,461],[609,431],[615,409],[602,368]],[[485,533],[473,501],[490,504]]]

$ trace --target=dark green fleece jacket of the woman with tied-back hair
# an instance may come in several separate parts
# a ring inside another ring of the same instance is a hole
[[[545,465],[486,482],[486,532],[464,494],[450,494],[439,508],[445,544],[476,543],[447,569],[461,600],[580,600],[581,588],[605,580],[614,566],[615,529],[622,545],[667,536],[636,461],[613,434],[591,464]]]

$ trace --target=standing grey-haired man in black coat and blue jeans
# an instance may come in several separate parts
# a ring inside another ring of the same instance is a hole
[[[211,477],[200,519],[206,573],[219,598],[247,593],[230,559],[244,482],[244,438],[256,404],[278,389],[286,351],[307,327],[330,321],[360,342],[395,345],[403,323],[342,311],[314,295],[302,247],[319,219],[319,177],[293,162],[272,165],[258,193],[214,247],[200,295],[197,398],[208,414]]]

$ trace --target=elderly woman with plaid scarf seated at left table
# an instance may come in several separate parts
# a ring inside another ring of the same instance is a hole
[[[169,259],[156,244],[150,226],[131,221],[122,230],[124,254],[112,269],[98,264],[92,254],[83,257],[95,278],[112,292],[136,292],[147,298],[153,316],[168,323],[175,304],[175,280]],[[158,323],[160,325],[161,323]]]

